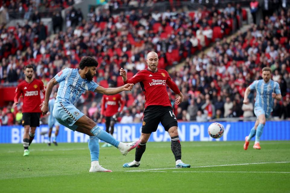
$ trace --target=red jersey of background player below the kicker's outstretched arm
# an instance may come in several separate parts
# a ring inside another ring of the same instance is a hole
[[[107,104],[107,108],[105,105]],[[119,106],[120,112],[123,110],[125,101],[122,99],[121,94],[103,95],[101,114],[107,117],[111,117],[118,112]]]

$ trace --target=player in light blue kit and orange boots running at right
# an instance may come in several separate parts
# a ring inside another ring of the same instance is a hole
[[[245,91],[243,103],[249,103],[248,96],[251,90],[256,90],[256,102],[254,105],[254,113],[257,117],[255,126],[251,129],[250,134],[245,138],[244,150],[248,149],[251,138],[256,135],[254,149],[261,149],[260,137],[263,133],[263,128],[266,119],[269,118],[274,105],[274,99],[281,100],[282,95],[279,84],[271,80],[272,70],[265,67],[262,69],[263,80],[254,81]]]

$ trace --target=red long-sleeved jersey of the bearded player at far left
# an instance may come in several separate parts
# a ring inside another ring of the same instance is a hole
[[[15,90],[14,102],[18,102],[19,96],[23,96],[22,112],[41,112],[40,91],[45,94],[42,81],[34,78],[31,83],[28,83],[24,80]]]

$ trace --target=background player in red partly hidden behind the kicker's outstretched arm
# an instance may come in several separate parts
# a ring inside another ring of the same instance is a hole
[[[109,83],[109,88],[113,88],[114,84]],[[122,99],[121,94],[115,95],[103,95],[101,119],[105,116],[106,119],[106,132],[113,136],[114,125],[117,122],[117,118],[123,111],[125,101]],[[120,109],[119,109],[120,108]],[[111,126],[111,130],[109,130]],[[111,147],[111,144],[105,143],[102,147]]]

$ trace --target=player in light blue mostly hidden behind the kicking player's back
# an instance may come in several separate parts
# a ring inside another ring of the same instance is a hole
[[[49,128],[49,131],[48,131],[48,143],[47,143],[48,146],[50,146],[50,138],[51,138],[51,133],[52,133],[53,125],[55,126],[55,132],[54,132],[54,137],[52,139],[52,142],[56,146],[57,146],[56,138],[57,138],[57,135],[58,135],[58,130],[60,129],[59,122],[57,122],[54,119],[53,115],[52,115],[53,106],[54,106],[54,102],[55,102],[55,99],[56,99],[56,95],[57,95],[57,92],[54,92],[53,93],[53,98],[51,98],[48,101],[48,109],[49,109],[48,110],[49,111],[49,115],[48,115],[48,119],[47,119],[48,128]]]

